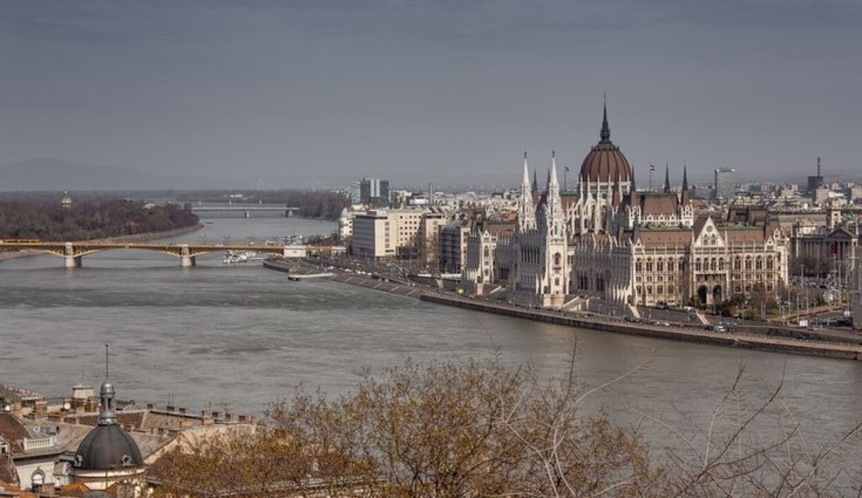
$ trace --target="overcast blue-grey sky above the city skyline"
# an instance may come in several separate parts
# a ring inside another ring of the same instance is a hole
[[[606,93],[639,182],[862,166],[859,0],[4,0],[0,67],[0,163],[516,184]]]

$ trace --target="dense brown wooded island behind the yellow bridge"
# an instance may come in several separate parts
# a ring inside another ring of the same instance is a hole
[[[197,225],[197,215],[174,204],[111,199],[75,202],[0,201],[0,240],[90,240]]]

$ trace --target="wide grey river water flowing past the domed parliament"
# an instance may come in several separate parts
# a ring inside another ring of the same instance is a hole
[[[205,220],[203,230],[175,241],[280,240],[335,229],[299,218]],[[584,386],[644,366],[585,407],[622,422],[636,422],[642,410],[674,426],[705,429],[740,365],[750,404],[784,377],[782,400],[815,445],[862,418],[862,362],[629,337],[339,283],[290,282],[259,263],[223,265],[222,254],[199,257],[192,269],[140,251],[97,253],[71,271],[49,255],[0,262],[0,383],[45,395],[65,395],[82,376],[98,385],[105,342],[121,398],[259,414],[299,384],[337,395],[363,370],[408,357],[498,352],[511,364],[534,362],[552,377],[565,370],[573,338]],[[655,448],[680,445],[660,426],[647,424],[644,433]]]

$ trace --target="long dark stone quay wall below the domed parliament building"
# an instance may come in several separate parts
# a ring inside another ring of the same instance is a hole
[[[459,296],[444,296],[440,294],[423,294],[422,301],[436,302],[457,308],[483,311],[485,313],[503,314],[515,318],[533,321],[544,321],[555,325],[568,327],[590,328],[610,333],[626,333],[640,337],[659,339],[684,340],[702,344],[746,347],[772,352],[791,352],[809,356],[821,356],[841,359],[862,359],[862,346],[851,344],[824,343],[803,341],[798,339],[750,336],[738,333],[714,333],[706,330],[679,327],[653,327],[628,322],[585,320],[570,314],[556,311],[515,307],[507,304],[496,304]]]

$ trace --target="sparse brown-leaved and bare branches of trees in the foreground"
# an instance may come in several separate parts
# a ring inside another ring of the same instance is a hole
[[[628,407],[683,448],[651,458],[640,426],[579,409],[639,369],[583,389],[574,365],[548,383],[534,368],[507,369],[500,358],[408,360],[380,378],[365,376],[336,401],[300,392],[275,402],[266,426],[172,451],[151,477],[157,495],[185,496],[791,497],[841,496],[858,486],[860,464],[843,451],[859,445],[859,426],[812,447],[780,383],[753,404],[740,389],[740,368],[709,426],[696,432]],[[761,439],[756,420],[775,433]]]

